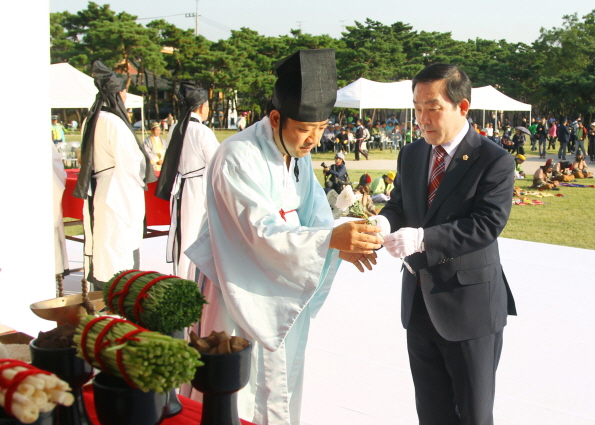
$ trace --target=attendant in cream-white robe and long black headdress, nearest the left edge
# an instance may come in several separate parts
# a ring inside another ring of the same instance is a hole
[[[99,61],[93,76],[99,92],[83,133],[74,196],[85,200],[85,276],[100,290],[115,273],[140,266],[143,189],[156,178],[127,119],[124,82]]]

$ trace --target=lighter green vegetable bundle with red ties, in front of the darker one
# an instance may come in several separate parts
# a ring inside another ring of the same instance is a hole
[[[186,341],[110,316],[83,316],[74,341],[89,364],[145,392],[190,382],[203,364]]]

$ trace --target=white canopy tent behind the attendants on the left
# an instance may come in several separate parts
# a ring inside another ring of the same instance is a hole
[[[50,65],[50,107],[51,108],[90,108],[95,102],[97,87],[92,77],[68,63]],[[145,131],[145,111],[142,96],[128,93],[126,108],[140,108],[143,138]]]

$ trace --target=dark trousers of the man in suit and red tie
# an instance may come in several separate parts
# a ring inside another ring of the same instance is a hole
[[[418,289],[407,345],[420,425],[493,425],[502,331],[447,341],[432,325]]]

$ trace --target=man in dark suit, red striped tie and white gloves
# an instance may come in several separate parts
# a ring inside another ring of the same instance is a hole
[[[401,150],[380,213],[387,220],[379,225],[393,232],[384,246],[407,268],[401,320],[421,425],[493,424],[502,330],[516,314],[497,242],[510,214],[514,160],[470,128],[470,101],[471,82],[456,66],[417,74],[423,137]]]

